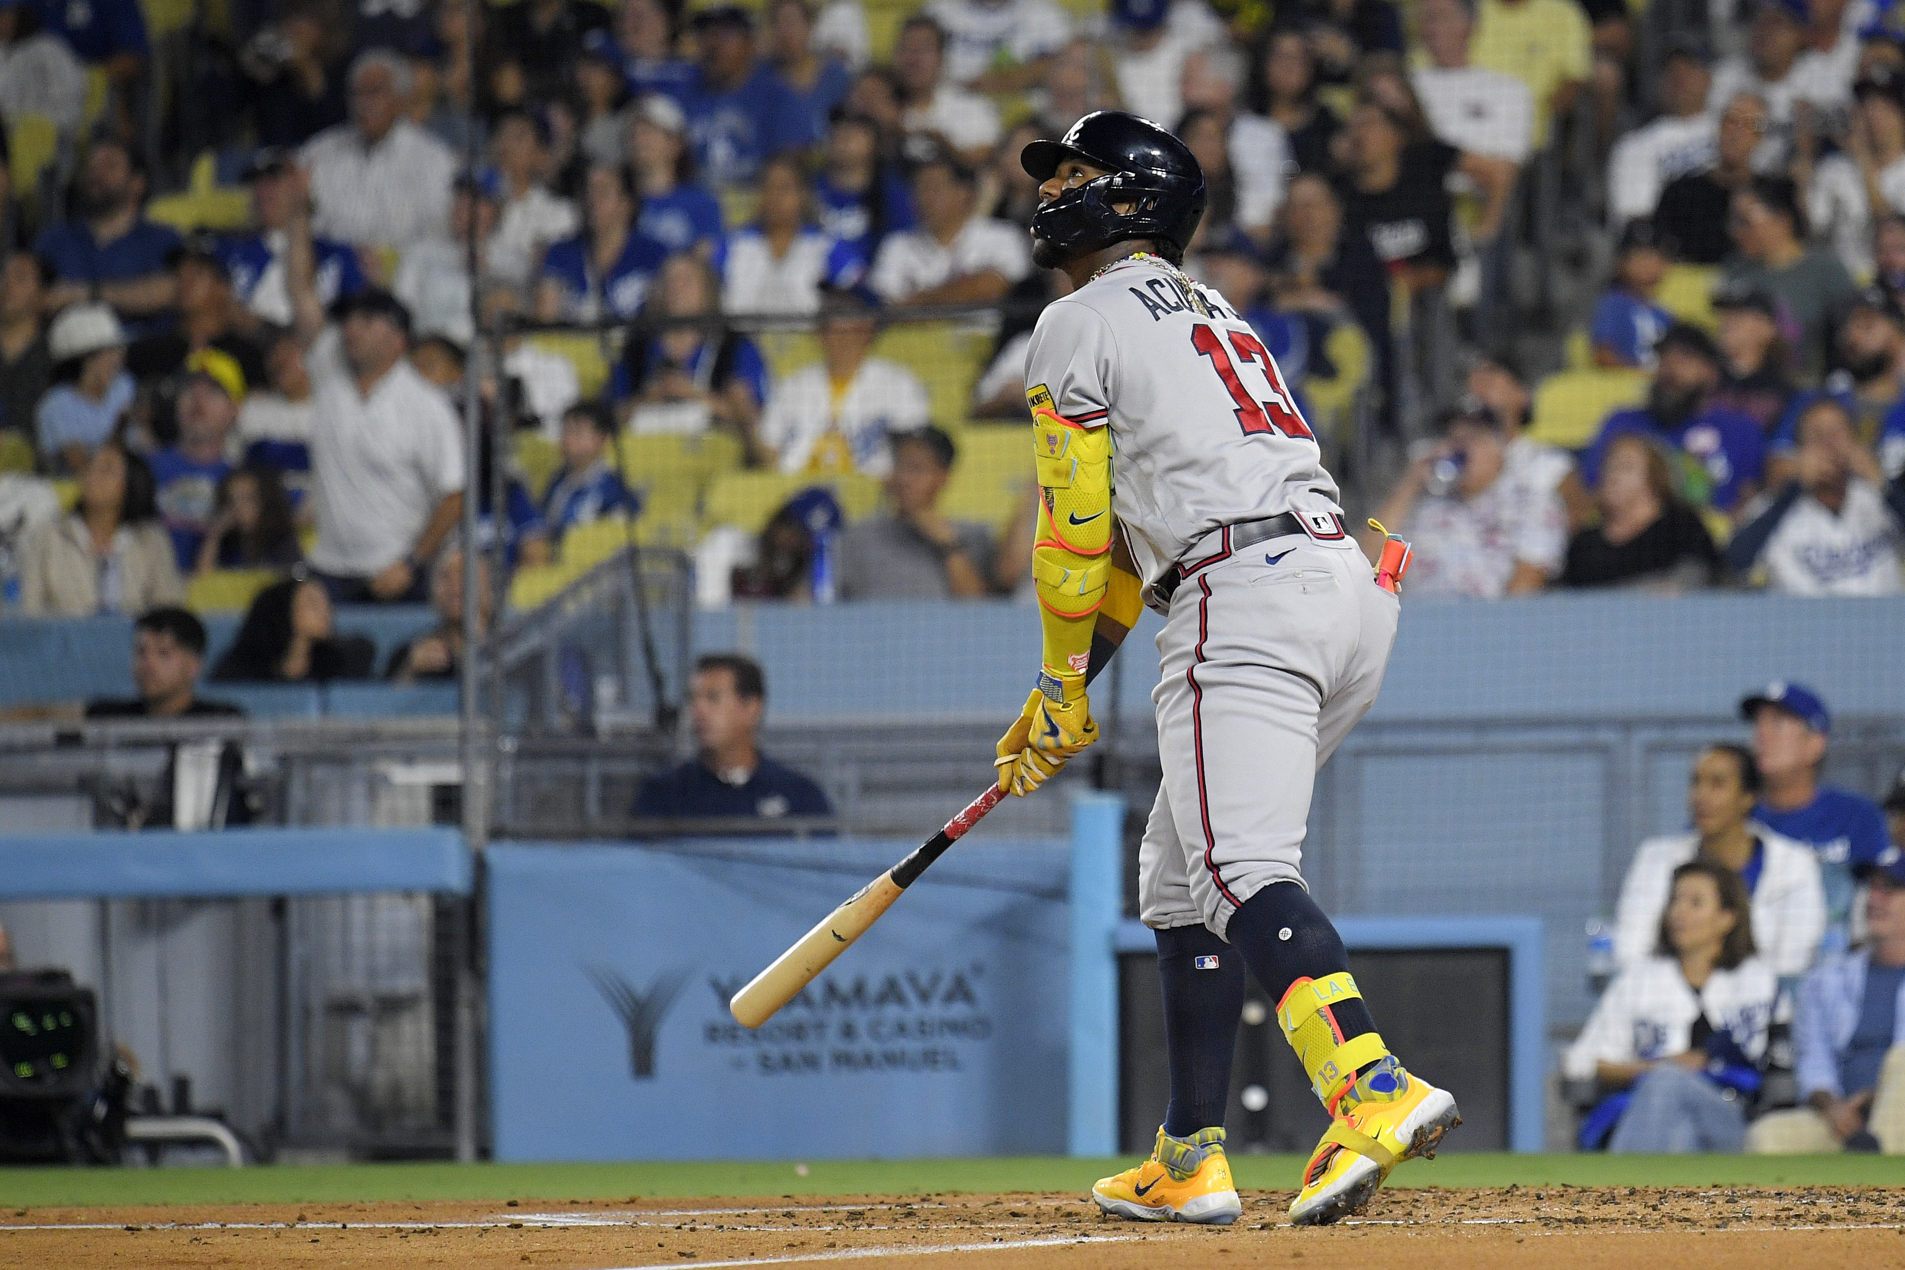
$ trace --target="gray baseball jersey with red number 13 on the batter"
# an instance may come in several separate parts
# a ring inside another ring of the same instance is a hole
[[[1221,526],[1341,516],[1335,480],[1250,324],[1156,259],[1120,261],[1046,307],[1025,394],[1111,427],[1113,512],[1145,583]]]

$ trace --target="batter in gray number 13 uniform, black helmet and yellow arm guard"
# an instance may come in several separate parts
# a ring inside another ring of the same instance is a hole
[[[1172,1101],[1151,1160],[1092,1194],[1141,1220],[1242,1213],[1223,1112],[1248,965],[1334,1118],[1290,1219],[1334,1222],[1461,1123],[1455,1099],[1389,1053],[1301,870],[1316,769],[1375,701],[1396,596],[1343,529],[1276,362],[1179,268],[1206,204],[1191,150],[1101,110],[1019,162],[1042,183],[1033,259],[1074,291],[1044,310],[1027,352],[1044,665],[998,743],[1000,788],[1033,792],[1097,739],[1084,670],[1114,533],[1166,617],[1153,691],[1164,784],[1139,891]]]

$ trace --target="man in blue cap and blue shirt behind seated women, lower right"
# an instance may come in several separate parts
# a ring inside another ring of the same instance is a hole
[[[1739,703],[1753,724],[1753,758],[1764,788],[1755,819],[1819,857],[1825,882],[1825,952],[1852,943],[1854,872],[1886,849],[1886,823],[1871,798],[1819,784],[1833,716],[1810,687],[1775,680]]]

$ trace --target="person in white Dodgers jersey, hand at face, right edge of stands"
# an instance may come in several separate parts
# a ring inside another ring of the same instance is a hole
[[[1798,417],[1791,480],[1732,543],[1734,573],[1796,596],[1892,596],[1905,539],[1905,489],[1886,482],[1838,396]]]

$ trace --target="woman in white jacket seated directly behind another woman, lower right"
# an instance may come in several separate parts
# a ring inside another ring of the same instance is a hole
[[[1688,779],[1692,834],[1648,838],[1634,851],[1615,906],[1614,960],[1636,965],[1654,952],[1673,870],[1692,859],[1714,861],[1747,887],[1760,958],[1781,979],[1812,969],[1825,935],[1825,887],[1810,847],[1753,823],[1760,767],[1737,744],[1707,746]]]

